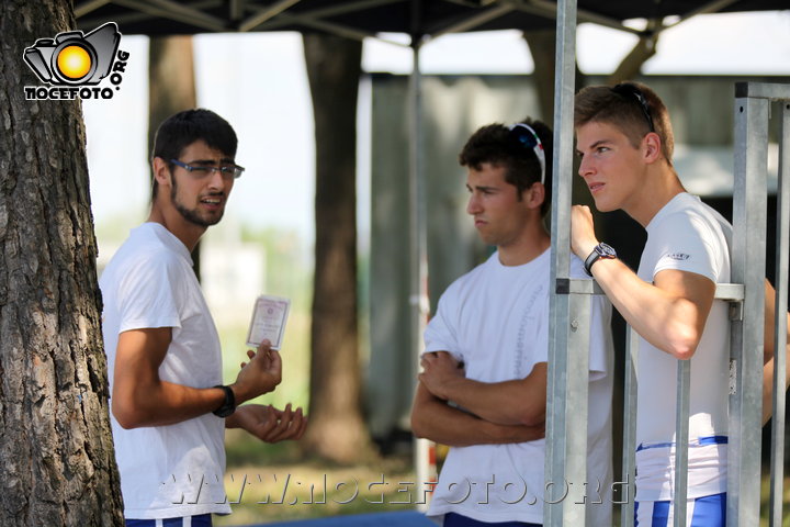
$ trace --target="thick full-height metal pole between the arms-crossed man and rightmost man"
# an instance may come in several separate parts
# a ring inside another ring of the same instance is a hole
[[[587,472],[587,384],[592,283],[569,280],[573,101],[576,65],[576,0],[557,3],[554,76],[552,262],[546,396],[546,460],[543,523],[580,526],[577,503]],[[573,433],[569,433],[573,428]],[[574,487],[575,485],[575,487]]]

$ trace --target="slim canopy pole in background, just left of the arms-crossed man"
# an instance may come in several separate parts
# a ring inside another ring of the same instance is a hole
[[[415,7],[414,9],[418,9]],[[422,171],[422,76],[419,64],[420,42],[413,37],[411,52],[414,66],[409,78],[409,246],[410,272],[409,306],[411,307],[410,328],[414,345],[414,379],[419,370],[419,356],[425,349],[422,335],[428,319],[428,248],[426,235],[426,184]],[[421,503],[427,495],[426,483],[431,481],[430,441],[415,438],[415,472],[417,476],[417,509],[427,511],[428,504]]]

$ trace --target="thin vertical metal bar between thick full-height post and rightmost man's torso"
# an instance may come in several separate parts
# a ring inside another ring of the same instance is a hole
[[[639,370],[639,334],[630,325],[625,333],[625,386],[623,389],[623,458],[620,496],[621,527],[633,527],[636,497],[636,385]]]

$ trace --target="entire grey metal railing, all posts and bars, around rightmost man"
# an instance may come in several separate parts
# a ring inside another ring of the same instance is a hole
[[[573,492],[558,481],[586,481],[587,382],[590,294],[599,288],[571,280],[569,210],[573,145],[573,92],[576,2],[561,0],[557,18],[555,75],[554,182],[552,209],[551,343],[546,407],[545,511],[546,526],[584,525],[584,508],[573,506]],[[776,239],[776,319],[774,424],[771,440],[770,526],[781,526],[785,370],[790,253],[790,85],[736,85],[731,280],[718,284],[715,298],[731,304],[731,395],[727,445],[727,526],[759,524],[760,446],[764,357],[764,269],[766,268],[768,124],[771,103],[780,102],[782,123],[778,178]],[[623,473],[621,525],[633,526],[637,344],[628,329],[625,352]],[[678,361],[676,438],[688,438],[690,360]],[[571,410],[572,408],[572,410]],[[676,441],[674,526],[686,526],[688,441]]]

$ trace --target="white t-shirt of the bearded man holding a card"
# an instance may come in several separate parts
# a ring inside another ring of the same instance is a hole
[[[222,384],[219,338],[187,247],[158,223],[132,231],[104,269],[102,332],[110,386],[119,334],[171,327],[162,381]],[[176,425],[123,429],[112,416],[126,518],[230,513],[224,491],[225,419],[202,415]]]

